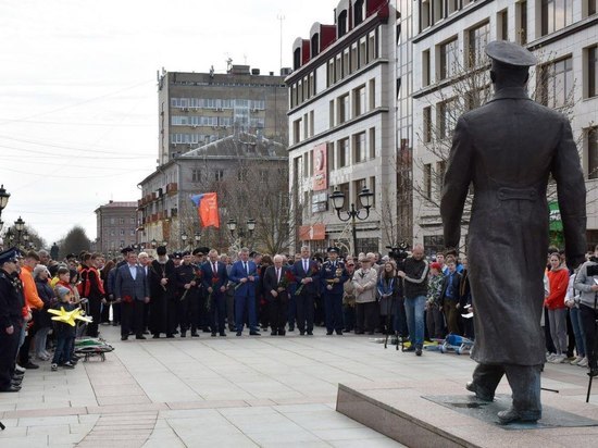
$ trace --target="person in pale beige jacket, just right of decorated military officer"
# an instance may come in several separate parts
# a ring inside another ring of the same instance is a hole
[[[364,332],[374,334],[376,325],[376,282],[377,273],[372,269],[372,261],[367,257],[361,260],[361,267],[353,274],[356,286],[356,335]]]

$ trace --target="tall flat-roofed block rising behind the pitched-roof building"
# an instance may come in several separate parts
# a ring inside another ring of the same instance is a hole
[[[272,72],[261,75],[248,65],[232,65],[225,74],[163,71],[158,102],[158,165],[235,128],[287,141],[286,86],[284,77]]]

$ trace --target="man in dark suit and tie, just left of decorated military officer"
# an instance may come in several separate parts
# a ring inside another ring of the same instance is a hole
[[[297,283],[295,300],[297,302],[297,327],[303,336],[306,331],[309,336],[313,335],[313,303],[317,293],[316,285],[320,282],[317,263],[310,260],[310,248],[301,247],[301,259],[292,265],[292,275]]]

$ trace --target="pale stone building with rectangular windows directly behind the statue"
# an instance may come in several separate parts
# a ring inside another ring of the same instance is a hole
[[[437,204],[452,128],[459,115],[491,96],[484,49],[504,39],[539,61],[531,71],[531,96],[571,117],[587,178],[587,239],[597,244],[596,0],[419,0],[413,7],[415,240],[431,251],[444,247]],[[464,245],[466,228],[462,235]]]

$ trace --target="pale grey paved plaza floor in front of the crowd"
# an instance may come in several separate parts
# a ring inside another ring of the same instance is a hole
[[[412,381],[462,391],[474,366],[468,357],[415,357],[322,328],[311,337],[204,333],[124,343],[119,329],[101,327],[115,347],[105,362],[51,372],[40,361],[20,393],[0,394],[0,446],[396,447],[335,411],[338,383]],[[543,386],[583,401],[587,376],[549,364]]]

